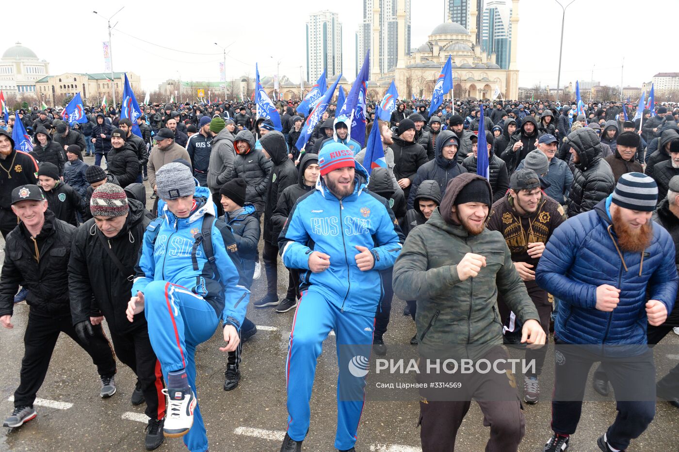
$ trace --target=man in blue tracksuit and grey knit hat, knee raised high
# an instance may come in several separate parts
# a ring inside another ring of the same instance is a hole
[[[162,366],[164,435],[184,436],[189,451],[203,452],[208,438],[196,400],[196,346],[212,337],[221,319],[226,345],[219,350],[236,350],[250,292],[234,236],[215,219],[210,191],[196,187],[191,170],[178,162],[160,168],[155,179],[162,216],[144,234],[127,315],[132,321],[145,312]]]

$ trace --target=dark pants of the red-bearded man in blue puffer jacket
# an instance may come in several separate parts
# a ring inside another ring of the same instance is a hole
[[[589,369],[593,362],[603,358],[585,347],[559,346],[558,340],[556,343],[551,428],[555,433],[570,435],[580,421]],[[616,402],[618,415],[608,428],[606,439],[611,447],[624,450],[655,417],[653,353],[648,350],[631,358],[606,358],[606,370],[617,396],[625,399]],[[649,383],[640,385],[640,381]]]

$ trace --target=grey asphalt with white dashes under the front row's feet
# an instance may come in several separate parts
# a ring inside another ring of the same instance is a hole
[[[90,163],[92,157],[86,157]],[[149,206],[151,201],[149,200]],[[4,246],[4,244],[2,244]],[[4,258],[4,253],[0,254]],[[287,277],[279,264],[278,294],[285,294]],[[264,272],[252,287],[251,302],[265,295]],[[388,332],[389,345],[406,345],[414,335],[414,322],[401,313],[405,302],[394,299]],[[0,331],[0,417],[10,415],[10,401],[19,382],[23,354],[22,337],[29,307],[16,305],[12,322],[14,329]],[[273,307],[248,307],[248,317],[259,326],[258,333],[243,346],[242,378],[236,390],[222,388],[226,356],[219,351],[223,343],[221,328],[196,351],[198,398],[205,419],[211,451],[278,451],[287,423],[284,364],[287,341],[294,310],[278,314]],[[107,328],[105,326],[105,328]],[[679,337],[670,334],[663,344],[679,345]],[[374,356],[374,355],[373,355]],[[679,360],[679,354],[669,360]],[[318,358],[316,381],[311,400],[311,424],[304,441],[305,451],[334,451],[337,426],[336,386],[337,355],[334,337],[323,344]],[[545,375],[553,373],[553,356],[547,357]],[[659,371],[660,373],[660,371]],[[660,377],[661,375],[659,375]],[[659,378],[658,377],[658,378]],[[368,381],[371,380],[368,376]],[[517,376],[519,388],[523,379]],[[122,451],[143,450],[145,435],[144,405],[134,407],[130,396],[135,377],[119,362],[115,376],[117,393],[109,398],[99,396],[100,381],[96,367],[79,346],[61,335],[45,383],[38,392],[35,408],[37,418],[18,429],[0,429],[0,451]],[[545,389],[543,389],[545,391]],[[612,423],[617,412],[612,397],[608,400],[585,402],[577,432],[572,435],[569,451],[598,451],[597,438]],[[521,451],[542,451],[551,436],[549,421],[551,404],[541,400],[526,405],[526,436]],[[420,451],[417,428],[419,402],[417,398],[398,402],[367,399],[357,451],[413,452]],[[473,403],[458,433],[458,451],[483,451],[490,428],[483,426],[483,415]],[[659,401],[653,423],[629,451],[679,451],[679,411]],[[166,438],[159,451],[186,450],[181,439]]]

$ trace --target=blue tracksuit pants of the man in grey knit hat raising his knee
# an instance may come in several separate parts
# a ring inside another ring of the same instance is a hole
[[[168,381],[168,372],[186,369],[189,385],[198,397],[196,345],[215,333],[219,324],[215,309],[187,288],[162,280],[146,286],[144,299],[149,339],[165,381]],[[208,437],[198,404],[194,410],[194,425],[183,438],[191,452],[208,450]]]

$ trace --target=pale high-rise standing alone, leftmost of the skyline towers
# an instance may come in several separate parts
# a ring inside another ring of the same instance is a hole
[[[342,24],[337,13],[321,11],[306,22],[306,79],[314,83],[325,72],[328,79],[342,73]]]

